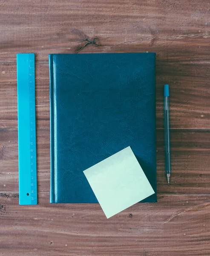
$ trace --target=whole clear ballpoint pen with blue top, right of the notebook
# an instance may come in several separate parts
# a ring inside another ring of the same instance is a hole
[[[171,177],[170,159],[170,108],[169,108],[169,85],[164,85],[164,142],[165,142],[165,170],[168,184]]]

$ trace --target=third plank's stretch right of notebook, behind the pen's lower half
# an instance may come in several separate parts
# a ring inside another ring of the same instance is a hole
[[[210,194],[210,131],[172,130],[172,177],[165,177],[164,131],[157,131],[157,189],[160,194]]]

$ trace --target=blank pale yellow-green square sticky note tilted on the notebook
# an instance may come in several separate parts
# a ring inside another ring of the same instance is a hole
[[[107,218],[154,194],[130,147],[84,171]]]

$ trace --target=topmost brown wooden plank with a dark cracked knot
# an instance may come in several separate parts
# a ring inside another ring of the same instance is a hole
[[[0,62],[17,52],[157,52],[158,63],[210,63],[208,0],[1,0]],[[86,47],[85,47],[86,45]]]

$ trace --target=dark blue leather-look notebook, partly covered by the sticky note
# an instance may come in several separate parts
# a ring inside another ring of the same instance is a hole
[[[51,203],[97,203],[83,171],[130,146],[155,194],[155,53],[49,55]]]

